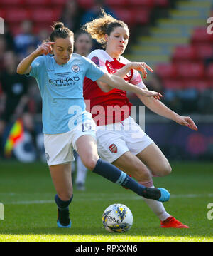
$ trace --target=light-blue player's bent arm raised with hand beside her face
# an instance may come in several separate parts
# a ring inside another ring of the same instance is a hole
[[[51,46],[55,44],[55,42],[42,43],[33,53],[24,58],[17,67],[17,73],[20,75],[30,73],[31,72],[31,63],[38,56],[45,54],[47,55],[52,50]]]

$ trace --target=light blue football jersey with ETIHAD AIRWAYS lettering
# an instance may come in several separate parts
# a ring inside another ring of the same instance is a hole
[[[73,53],[70,61],[58,65],[53,56],[43,55],[31,66],[27,76],[33,76],[40,89],[43,133],[66,133],[91,118],[84,103],[84,77],[96,81],[104,75],[92,61]]]

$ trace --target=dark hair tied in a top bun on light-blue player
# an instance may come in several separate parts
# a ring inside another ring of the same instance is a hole
[[[50,41],[54,42],[55,39],[66,39],[67,37],[74,36],[73,32],[68,29],[62,22],[55,22],[53,26],[51,26],[53,32],[50,34]]]

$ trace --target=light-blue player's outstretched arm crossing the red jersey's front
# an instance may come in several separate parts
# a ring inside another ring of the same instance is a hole
[[[101,78],[97,79],[97,82],[99,81],[103,83],[107,83],[112,88],[116,88],[124,91],[130,91],[131,93],[138,93],[139,95],[142,95],[142,96],[154,97],[156,99],[160,99],[162,97],[160,93],[157,93],[155,91],[144,90],[139,88],[138,86],[133,86],[133,84],[131,83],[126,83],[126,81],[124,81],[124,79],[120,78],[119,76],[114,76],[114,75],[109,75],[107,73],[104,73],[104,75]]]

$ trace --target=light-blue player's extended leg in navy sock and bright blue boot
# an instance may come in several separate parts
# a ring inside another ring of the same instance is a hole
[[[146,188],[126,175],[114,165],[99,158],[96,140],[91,135],[82,135],[76,140],[77,152],[84,165],[94,173],[102,175],[111,182],[118,183],[146,198],[167,201],[170,197],[165,189]]]

